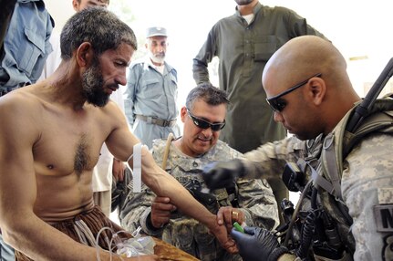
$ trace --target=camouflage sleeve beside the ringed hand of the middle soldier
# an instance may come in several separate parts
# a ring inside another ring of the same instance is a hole
[[[279,224],[277,204],[265,180],[239,179],[239,205],[249,226],[262,226],[268,230]]]

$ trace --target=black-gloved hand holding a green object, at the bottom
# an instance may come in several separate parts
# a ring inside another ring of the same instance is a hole
[[[231,235],[244,261],[276,261],[288,252],[284,245],[278,243],[275,235],[261,227],[246,226],[244,233],[233,228]]]

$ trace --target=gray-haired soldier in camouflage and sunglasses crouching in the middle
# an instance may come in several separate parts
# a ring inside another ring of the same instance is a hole
[[[238,179],[230,189],[202,192],[203,167],[210,162],[242,156],[226,143],[218,141],[224,126],[227,102],[225,92],[215,89],[211,84],[192,89],[186,107],[181,109],[184,135],[171,141],[169,148],[167,141],[154,141],[153,157],[162,164],[166,157],[165,151],[169,149],[165,171],[183,184],[213,214],[221,207],[219,213],[231,227],[233,221],[244,221],[247,225],[274,229],[278,224],[277,205],[265,180]],[[146,234],[161,237],[202,260],[242,260],[240,256],[225,252],[214,236],[209,234],[207,227],[175,211],[170,203],[167,203],[167,216],[162,219],[162,209],[155,214],[154,207],[163,204],[163,201],[157,200],[160,197],[155,198],[156,195],[146,187],[142,193],[130,192],[120,210],[123,227],[134,231],[140,225]]]

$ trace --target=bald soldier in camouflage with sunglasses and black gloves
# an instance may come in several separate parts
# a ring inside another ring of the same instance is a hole
[[[266,143],[242,160],[216,162],[202,173],[204,181],[216,189],[235,177],[284,173],[284,180],[285,162],[295,162],[305,175],[296,172],[295,178],[291,172],[296,181],[288,179],[287,185],[296,183],[311,200],[301,201],[298,216],[306,218],[295,249],[263,228],[245,227],[245,234],[233,230],[243,260],[393,260],[392,131],[371,131],[351,148],[345,141],[354,133],[336,135],[345,132],[348,116],[361,101],[346,74],[345,58],[322,38],[296,37],[269,60],[263,81],[274,120],[296,137]],[[392,126],[391,99],[377,100],[371,111],[359,130],[381,114]],[[333,158],[327,157],[330,148],[337,151]],[[327,174],[332,165],[339,170],[336,177]],[[330,189],[327,183],[333,184]]]

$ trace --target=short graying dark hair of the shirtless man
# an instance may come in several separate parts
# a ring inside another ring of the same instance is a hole
[[[86,8],[68,19],[60,36],[61,58],[70,59],[84,42],[91,44],[97,56],[121,43],[138,48],[132,29],[103,7]]]

